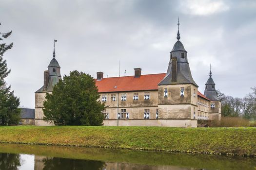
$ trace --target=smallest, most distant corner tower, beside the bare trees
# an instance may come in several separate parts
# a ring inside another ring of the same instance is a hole
[[[215,83],[212,78],[212,64],[210,65],[209,78],[205,84],[204,96],[210,100],[209,119],[221,118],[221,103],[217,97],[217,91],[215,89]]]

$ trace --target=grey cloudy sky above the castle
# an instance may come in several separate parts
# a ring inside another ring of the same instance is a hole
[[[13,31],[4,58],[6,79],[20,105],[35,107],[43,71],[56,59],[61,74],[79,70],[96,77],[166,72],[169,52],[180,41],[188,51],[199,90],[212,63],[217,89],[244,97],[256,86],[255,0],[0,0],[0,32]]]

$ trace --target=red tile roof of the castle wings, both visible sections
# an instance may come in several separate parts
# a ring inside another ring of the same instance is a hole
[[[98,86],[99,93],[158,90],[158,83],[164,78],[165,74],[166,73],[146,74],[141,75],[140,77],[126,76],[103,78],[101,80],[96,80],[96,85]],[[199,91],[197,95],[209,100]]]

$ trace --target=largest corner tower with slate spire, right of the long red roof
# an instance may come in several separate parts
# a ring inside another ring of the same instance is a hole
[[[187,51],[177,42],[170,52],[169,66],[158,84],[158,119],[169,119],[169,126],[197,127],[197,87],[189,68]],[[164,121],[164,120],[163,120]]]

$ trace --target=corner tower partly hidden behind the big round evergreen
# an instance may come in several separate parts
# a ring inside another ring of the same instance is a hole
[[[56,85],[61,79],[60,66],[58,61],[55,59],[55,42],[53,49],[53,59],[51,60],[48,70],[43,73],[43,86],[35,92],[35,125],[36,126],[51,126],[50,124],[43,120],[44,114],[42,111],[43,102],[45,101],[46,93],[51,93],[53,91],[54,85]]]

